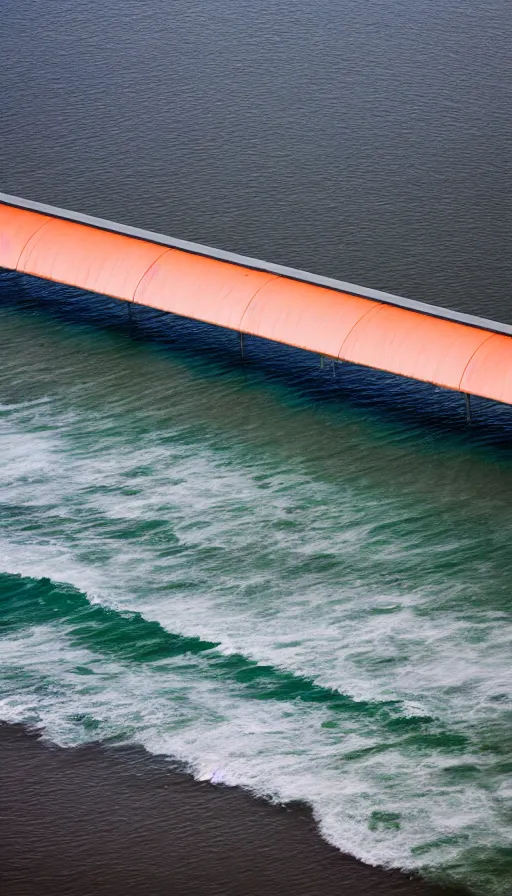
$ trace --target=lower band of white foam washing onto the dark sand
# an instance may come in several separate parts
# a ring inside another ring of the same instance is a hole
[[[1,715],[44,725],[63,745],[123,735],[183,760],[201,780],[307,800],[324,835],[368,862],[413,868],[426,858],[449,862],[465,838],[475,846],[505,843],[489,793],[470,785],[448,794],[439,786],[441,757],[418,762],[413,752],[395,749],[350,761],[344,757],[351,752],[379,745],[378,724],[325,728],[324,707],[251,701],[235,685],[201,674],[201,658],[180,658],[177,665],[130,668],[70,646],[41,626],[25,638],[2,640],[4,675],[23,675],[18,692],[2,701]],[[91,674],[81,674],[84,669]],[[465,756],[472,761],[478,757]],[[386,813],[399,816],[399,830],[386,825]],[[450,842],[414,855],[415,847],[443,838]]]

